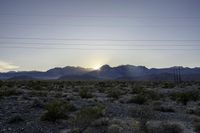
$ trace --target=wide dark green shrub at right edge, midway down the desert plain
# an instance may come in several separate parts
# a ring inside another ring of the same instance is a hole
[[[199,99],[199,93],[192,92],[182,92],[171,94],[171,99],[181,102],[183,105],[187,105],[189,101],[197,101]]]

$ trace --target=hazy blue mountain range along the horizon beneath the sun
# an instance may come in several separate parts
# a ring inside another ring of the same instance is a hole
[[[200,68],[179,67],[184,81],[200,80]],[[172,81],[177,67],[146,68],[145,66],[121,65],[110,67],[103,65],[99,70],[67,66],[53,68],[46,72],[25,71],[0,73],[0,79],[10,80],[150,80]]]

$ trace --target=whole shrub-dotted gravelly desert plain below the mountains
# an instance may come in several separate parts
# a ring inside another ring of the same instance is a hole
[[[200,82],[0,81],[1,133],[200,133]]]

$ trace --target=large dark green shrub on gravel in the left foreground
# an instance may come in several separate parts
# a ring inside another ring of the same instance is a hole
[[[68,102],[54,100],[46,105],[46,112],[42,115],[41,120],[55,122],[58,119],[66,119],[66,113],[74,111],[75,107]]]

